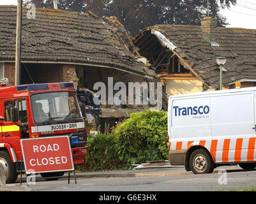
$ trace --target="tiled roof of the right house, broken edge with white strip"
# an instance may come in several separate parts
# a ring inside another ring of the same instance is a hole
[[[158,38],[179,57],[207,89],[220,84],[220,69],[216,57],[226,57],[223,84],[256,82],[256,29],[218,27],[216,44],[212,46],[197,25],[154,25],[146,27],[135,38],[138,45],[147,35]],[[147,38],[149,39],[149,38]]]

